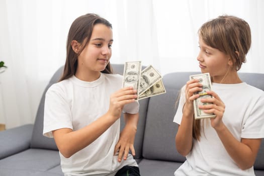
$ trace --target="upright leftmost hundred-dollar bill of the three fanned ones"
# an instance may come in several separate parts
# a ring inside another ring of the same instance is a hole
[[[125,62],[123,87],[132,86],[133,89],[137,90],[137,98],[135,100],[138,100],[140,76],[141,61]]]

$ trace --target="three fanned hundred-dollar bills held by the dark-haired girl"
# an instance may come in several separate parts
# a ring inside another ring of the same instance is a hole
[[[133,86],[137,90],[136,100],[166,93],[161,78],[152,65],[141,71],[141,61],[125,62],[123,87]]]

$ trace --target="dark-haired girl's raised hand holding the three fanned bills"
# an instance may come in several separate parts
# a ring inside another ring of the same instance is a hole
[[[132,86],[125,87],[115,92],[110,97],[110,106],[108,110],[108,115],[114,120],[117,120],[121,116],[122,109],[124,105],[135,102],[136,90],[133,90]]]

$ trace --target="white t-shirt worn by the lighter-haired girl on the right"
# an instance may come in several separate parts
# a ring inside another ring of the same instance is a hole
[[[185,103],[185,86],[173,122],[181,124]],[[225,104],[223,122],[240,141],[241,138],[264,137],[264,92],[245,82],[238,84],[212,83],[212,90]],[[225,150],[214,128],[204,120],[200,141],[193,141],[192,151],[174,175],[255,175],[253,166],[240,169]]]

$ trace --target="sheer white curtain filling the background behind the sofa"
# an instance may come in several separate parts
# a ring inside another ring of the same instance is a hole
[[[219,15],[235,15],[252,33],[240,72],[264,73],[263,10],[262,0],[0,0],[0,61],[8,66],[0,73],[0,123],[34,123],[46,84],[65,62],[69,27],[80,15],[97,13],[112,23],[111,63],[141,60],[162,75],[199,71],[199,27]]]

